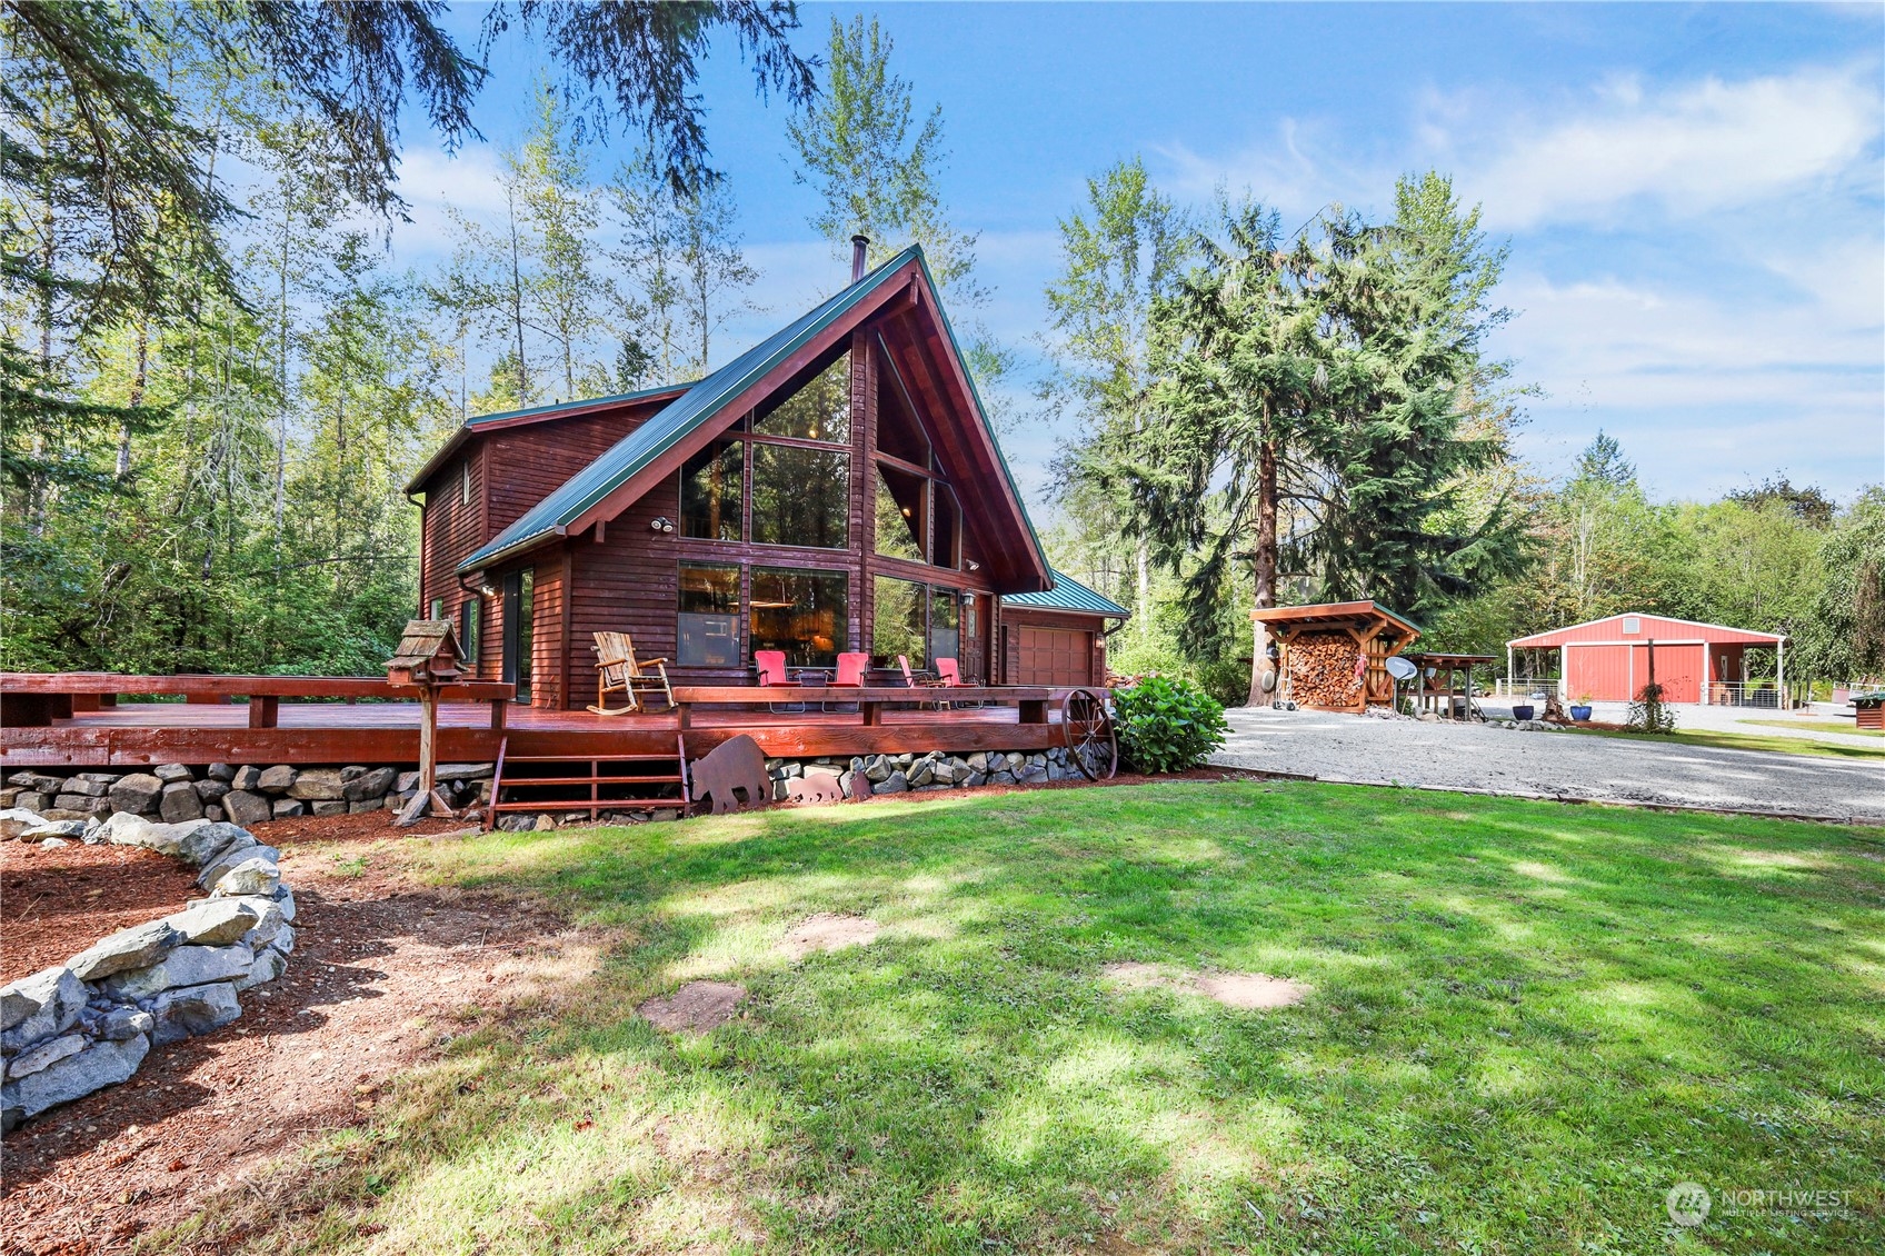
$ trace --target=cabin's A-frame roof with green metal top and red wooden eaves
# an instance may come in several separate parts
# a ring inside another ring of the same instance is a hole
[[[916,245],[696,383],[460,562],[458,571],[479,571],[552,537],[613,519],[673,475],[741,415],[788,387],[807,366],[880,315],[909,321],[918,330],[912,345],[922,347],[920,356],[899,366],[922,370],[924,388],[935,402],[935,421],[950,426],[958,460],[976,473],[984,488],[993,490],[978,494],[975,507],[995,524],[988,530],[993,534],[990,539],[999,537],[999,554],[990,554],[997,588],[1048,588],[1052,577],[1041,541]]]

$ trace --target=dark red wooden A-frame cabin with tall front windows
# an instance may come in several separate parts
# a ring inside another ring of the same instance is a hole
[[[920,249],[692,385],[483,415],[413,477],[420,607],[518,702],[594,696],[594,632],[675,683],[871,654],[1103,685],[1127,611],[1048,568]]]

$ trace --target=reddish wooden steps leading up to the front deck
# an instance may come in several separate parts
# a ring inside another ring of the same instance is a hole
[[[507,754],[498,747],[484,828],[500,815],[569,815],[598,820],[626,811],[688,813],[688,747],[675,737],[673,754]]]

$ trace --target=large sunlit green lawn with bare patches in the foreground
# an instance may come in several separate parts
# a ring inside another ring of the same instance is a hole
[[[254,1248],[1885,1248],[1876,830],[1172,783],[403,849],[620,943],[258,1188]],[[777,952],[826,911],[882,937]],[[1120,960],[1314,990],[1233,1011]],[[697,977],[746,1016],[633,1015]],[[1851,1194],[1723,1215],[1787,1188]]]

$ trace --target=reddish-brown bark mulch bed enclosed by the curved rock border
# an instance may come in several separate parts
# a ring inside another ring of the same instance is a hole
[[[194,868],[156,851],[0,841],[0,984],[202,894]]]

